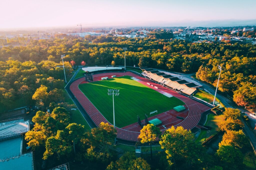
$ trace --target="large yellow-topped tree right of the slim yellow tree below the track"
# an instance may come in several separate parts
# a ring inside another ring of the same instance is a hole
[[[184,160],[188,155],[189,143],[194,141],[191,131],[178,126],[167,129],[162,135],[159,144],[166,153],[166,158],[170,166],[178,160]]]

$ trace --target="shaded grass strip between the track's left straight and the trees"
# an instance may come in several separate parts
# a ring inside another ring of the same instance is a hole
[[[73,100],[69,97],[67,92],[65,93],[65,101],[69,104],[74,104]],[[70,112],[71,112],[71,123],[84,125],[84,128],[87,130],[91,129],[78,109],[71,110]]]

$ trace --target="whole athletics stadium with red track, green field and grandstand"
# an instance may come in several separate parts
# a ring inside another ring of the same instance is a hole
[[[140,69],[141,74],[129,69],[124,72],[122,67],[83,68],[84,76],[70,82],[69,90],[87,113],[87,122],[95,126],[101,122],[113,125],[114,100],[118,139],[138,141],[141,128],[148,123],[159,127],[162,133],[172,126],[208,128],[200,120],[211,108],[190,97],[199,84],[167,72]],[[114,99],[111,89],[118,92]]]

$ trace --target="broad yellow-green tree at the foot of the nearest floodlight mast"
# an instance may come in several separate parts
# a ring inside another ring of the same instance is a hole
[[[102,162],[108,162],[114,156],[114,140],[116,130],[112,125],[101,122],[97,128],[92,128],[87,137],[81,139],[88,146],[87,156]]]

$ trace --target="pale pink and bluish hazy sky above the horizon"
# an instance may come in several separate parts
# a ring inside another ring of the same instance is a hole
[[[83,27],[179,26],[186,22],[193,26],[195,21],[256,19],[256,0],[1,0],[0,6],[1,29],[79,23],[88,24]]]

